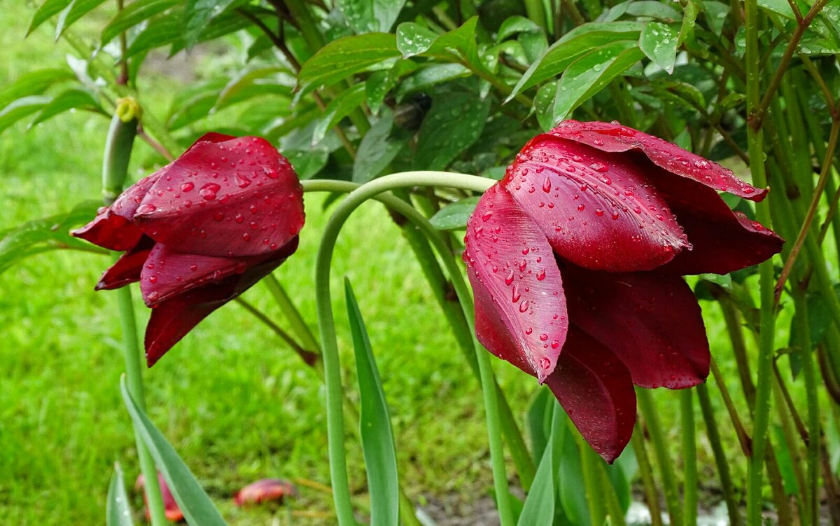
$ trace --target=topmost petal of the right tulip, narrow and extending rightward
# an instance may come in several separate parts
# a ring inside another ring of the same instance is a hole
[[[612,123],[581,123],[576,120],[567,120],[552,129],[549,134],[590,145],[601,151],[641,150],[655,165],[661,166],[672,174],[752,201],[761,201],[767,194],[766,188],[756,188],[741,181],[732,174],[731,170],[711,160],[683,150],[664,139],[622,126],[614,121]]]

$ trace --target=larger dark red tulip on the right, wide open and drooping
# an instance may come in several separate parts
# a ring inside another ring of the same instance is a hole
[[[781,250],[717,192],[760,201],[767,190],[621,124],[569,120],[525,145],[467,224],[478,339],[548,383],[607,461],[633,433],[633,384],[708,376],[700,306],[681,276]]]

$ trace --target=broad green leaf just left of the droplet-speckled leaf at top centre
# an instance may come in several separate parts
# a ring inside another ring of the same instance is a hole
[[[398,56],[393,34],[368,33],[333,40],[303,64],[297,76],[301,96]]]

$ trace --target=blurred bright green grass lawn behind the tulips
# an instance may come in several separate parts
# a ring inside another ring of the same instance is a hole
[[[0,8],[0,86],[24,72],[64,64],[70,50],[62,42],[54,44],[50,24],[24,39],[32,8],[8,0]],[[97,18],[81,24],[95,25]],[[140,82],[144,100],[156,112],[169,108],[171,94],[184,78],[201,78],[202,71],[225,63],[224,50],[181,57],[174,68],[165,66],[164,58],[149,60]],[[177,76],[170,76],[172,71]],[[97,199],[107,126],[102,117],[73,113],[33,129],[18,124],[0,136],[0,230]],[[155,168],[144,166],[150,159],[153,152],[139,144],[130,172],[135,180]],[[328,212],[321,196],[307,195],[306,202],[300,248],[276,276],[317,334],[312,273]],[[2,524],[102,523],[113,462],[121,462],[129,487],[134,482],[134,435],[118,393],[123,358],[116,302],[113,294],[92,290],[108,264],[103,256],[52,252],[0,275]],[[438,497],[473,502],[488,495],[491,471],[479,386],[411,251],[377,204],[366,205],[349,221],[334,256],[339,343],[345,383],[355,400],[349,330],[338,293],[345,275],[359,297],[385,382],[408,494],[421,503]],[[136,296],[142,334],[148,312]],[[281,320],[261,285],[244,298]],[[739,393],[717,307],[706,302],[703,307],[712,353],[731,380],[732,392]],[[494,366],[512,408],[523,414],[538,386],[507,364],[494,361]],[[232,504],[239,487],[259,478],[329,483],[320,381],[249,313],[236,304],[217,311],[146,371],[145,381],[150,417],[229,523],[332,523],[331,497],[305,485],[299,485],[301,496],[286,508],[239,509]],[[679,402],[663,390],[654,397],[677,458]],[[741,408],[747,414],[743,403]],[[697,414],[702,429],[699,409]],[[743,487],[746,467],[738,460],[737,441],[722,408],[717,414],[724,445],[735,462],[736,482]],[[700,434],[703,495],[714,502],[717,477],[705,440]],[[360,450],[352,439],[349,444],[352,489],[364,509]],[[139,510],[142,498],[137,492],[131,495]]]

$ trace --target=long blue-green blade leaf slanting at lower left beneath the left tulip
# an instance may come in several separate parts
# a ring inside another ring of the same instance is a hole
[[[134,398],[129,394],[124,375],[120,378],[119,389],[123,393],[123,402],[134,422],[134,430],[149,448],[155,459],[155,466],[164,476],[172,497],[175,497],[178,508],[181,508],[181,512],[184,513],[186,522],[201,524],[201,526],[225,526],[222,516],[213,506],[213,501],[207,497],[207,493],[198,484],[190,468],[186,467],[176,450],[139,408],[137,402],[134,402]]]

